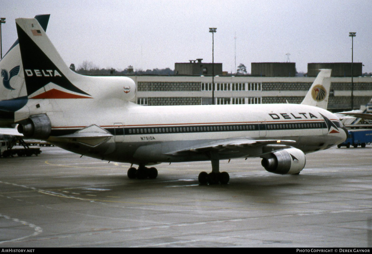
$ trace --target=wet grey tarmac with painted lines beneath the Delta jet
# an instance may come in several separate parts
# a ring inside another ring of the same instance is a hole
[[[372,146],[307,154],[300,175],[259,158],[221,161],[227,185],[199,185],[210,162],[129,164],[42,148],[0,159],[0,247],[371,247]]]

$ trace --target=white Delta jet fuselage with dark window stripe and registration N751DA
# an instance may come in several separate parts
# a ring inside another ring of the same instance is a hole
[[[346,139],[342,128],[329,133],[330,128],[324,117],[338,124],[339,120],[335,115],[308,105],[151,107],[124,102],[121,107],[100,105],[94,108],[89,99],[86,101],[83,110],[68,107],[71,110],[67,111],[66,105],[63,113],[57,111],[48,115],[52,123],[49,141],[72,152],[105,160],[135,164],[209,160],[208,155],[201,153],[173,152],[237,138],[294,140],[296,143],[291,146],[309,153],[334,146]],[[64,103],[66,100],[60,100],[57,104],[61,107]],[[67,117],[70,114],[74,117]],[[108,130],[113,137],[97,147],[66,143],[56,137],[74,133],[92,124]],[[264,152],[254,148],[233,153],[227,151],[220,158],[259,156]]]

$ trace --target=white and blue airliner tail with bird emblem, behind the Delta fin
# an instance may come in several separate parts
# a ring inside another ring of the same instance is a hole
[[[47,30],[49,17],[50,14],[35,16],[44,31]],[[11,127],[14,124],[14,112],[27,101],[18,39],[0,59],[0,73],[0,127]]]

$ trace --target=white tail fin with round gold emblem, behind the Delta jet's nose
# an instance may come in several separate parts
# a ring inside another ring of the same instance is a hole
[[[327,109],[331,71],[331,69],[320,69],[301,104]]]

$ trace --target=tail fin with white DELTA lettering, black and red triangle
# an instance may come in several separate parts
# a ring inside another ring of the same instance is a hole
[[[92,98],[71,82],[80,75],[68,68],[36,19],[16,19],[16,27],[29,99]]]

